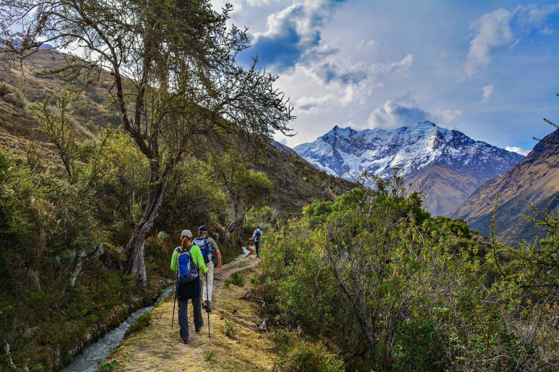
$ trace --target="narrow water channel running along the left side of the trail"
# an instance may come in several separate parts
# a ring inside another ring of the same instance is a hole
[[[243,247],[243,254],[238,255],[233,260],[239,260],[241,258],[247,257],[250,251],[247,247]],[[169,293],[174,289],[174,284],[163,289],[161,296],[157,300],[157,303],[162,302]],[[97,361],[102,360],[105,361],[106,357],[110,354],[111,350],[115,349],[115,347],[119,346],[120,342],[122,341],[122,337],[128,327],[130,327],[136,319],[140,315],[142,315],[146,311],[153,310],[153,306],[143,307],[140,310],[132,313],[124,322],[120,323],[118,327],[113,329],[112,331],[108,332],[101,340],[95,342],[94,344],[86,347],[83,350],[82,354],[76,356],[74,358],[74,362],[64,368],[62,372],[93,372],[97,369]]]

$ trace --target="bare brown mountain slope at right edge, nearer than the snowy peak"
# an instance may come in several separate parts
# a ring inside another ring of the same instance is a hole
[[[544,139],[559,141],[559,129]],[[524,160],[500,177],[485,182],[449,216],[462,218],[472,229],[489,235],[496,192],[499,192],[496,237],[501,243],[511,245],[515,239],[533,241],[536,236],[543,238],[544,231],[534,228],[532,222],[519,214],[535,218],[524,199],[543,211],[559,193],[559,145],[538,142]],[[558,202],[554,201],[551,209]]]

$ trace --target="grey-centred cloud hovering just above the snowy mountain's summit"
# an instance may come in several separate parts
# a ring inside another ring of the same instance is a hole
[[[406,100],[406,95],[403,99]],[[383,128],[395,129],[412,125],[417,122],[424,122],[429,120],[435,124],[442,126],[450,124],[462,112],[461,110],[440,110],[434,112],[427,112],[419,105],[415,104],[413,100],[406,100],[407,102],[394,102],[387,100],[381,107],[377,107],[367,120],[368,128]]]

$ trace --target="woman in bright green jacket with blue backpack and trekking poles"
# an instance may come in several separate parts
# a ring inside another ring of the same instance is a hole
[[[194,328],[200,332],[204,325],[200,308],[201,273],[207,273],[200,248],[192,244],[192,233],[183,230],[181,247],[177,247],[171,259],[171,269],[177,272],[176,294],[178,299],[178,325],[183,344],[188,344],[188,299],[194,308]]]

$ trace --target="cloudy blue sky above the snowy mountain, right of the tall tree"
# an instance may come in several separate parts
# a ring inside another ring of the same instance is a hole
[[[252,40],[239,61],[258,55],[291,97],[288,146],[430,120],[525,153],[559,122],[557,1],[230,2]]]

